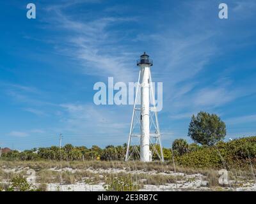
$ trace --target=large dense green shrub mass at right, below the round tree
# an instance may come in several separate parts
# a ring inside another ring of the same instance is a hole
[[[256,166],[256,136],[218,142],[211,147],[175,157],[182,166],[194,168],[251,168]]]

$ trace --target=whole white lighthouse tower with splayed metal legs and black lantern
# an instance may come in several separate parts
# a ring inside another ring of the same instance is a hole
[[[161,161],[164,161],[157,119],[156,101],[150,72],[152,65],[152,60],[149,59],[149,56],[145,52],[141,55],[140,60],[137,61],[137,66],[140,66],[140,74],[136,87],[125,161],[134,158],[134,154],[138,154],[140,161],[143,162],[152,161],[154,154],[156,154]],[[137,104],[138,96],[140,96],[139,105]],[[152,99],[152,105],[150,105],[150,98]],[[136,126],[139,127],[136,129]],[[138,141],[137,145],[132,145],[134,138],[139,138],[140,148],[138,148]]]

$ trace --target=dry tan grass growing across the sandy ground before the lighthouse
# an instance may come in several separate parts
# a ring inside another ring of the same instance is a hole
[[[31,168],[36,171],[36,182],[43,185],[41,186],[42,191],[45,190],[45,185],[49,183],[76,184],[76,182],[85,182],[86,184],[99,184],[99,182],[106,182],[108,178],[114,177],[131,177],[132,182],[142,186],[144,184],[175,184],[179,180],[185,180],[184,176],[157,174],[170,173],[174,172],[174,170],[184,173],[184,175],[200,173],[205,176],[209,187],[216,188],[220,186],[218,183],[220,176],[217,170],[184,168],[182,166],[176,166],[174,169],[173,164],[170,162],[141,163],[140,161],[130,161],[127,163],[124,161],[0,161],[0,184],[3,183],[3,180],[11,180],[17,174],[26,175],[24,168]],[[51,168],[55,170],[51,170]],[[61,172],[57,171],[60,168],[64,170]],[[65,168],[71,168],[76,171],[67,171]],[[16,172],[6,172],[3,169],[19,169],[20,171],[18,173],[17,170]],[[111,169],[125,170],[125,172],[115,170],[104,171]],[[93,172],[93,170],[103,171],[98,173],[97,171]],[[255,173],[250,170],[230,170],[229,172],[229,179],[235,181],[252,181],[254,179],[253,173]],[[1,185],[3,186],[4,184]]]

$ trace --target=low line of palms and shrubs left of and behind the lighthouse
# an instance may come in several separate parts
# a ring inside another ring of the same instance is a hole
[[[137,147],[140,149],[140,147]],[[159,149],[159,146],[156,147]],[[81,160],[119,160],[124,161],[125,153],[127,150],[127,145],[119,145],[114,147],[113,145],[108,145],[104,149],[93,145],[92,148],[87,147],[74,147],[71,144],[67,144],[60,149],[60,147],[40,147],[38,149],[34,148],[31,150],[24,150],[19,152],[17,150],[12,150],[11,152],[2,154],[3,159],[8,160],[21,160],[21,161],[35,161],[38,159],[51,159],[51,160],[62,160],[62,161],[81,161]],[[131,147],[132,150],[132,147]],[[171,158],[171,150],[163,149],[164,159]],[[134,154],[133,159],[138,159],[138,155]],[[157,155],[153,156],[153,159],[157,159]]]

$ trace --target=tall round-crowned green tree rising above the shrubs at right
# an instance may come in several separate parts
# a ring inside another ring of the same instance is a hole
[[[226,125],[218,115],[200,112],[192,116],[188,136],[196,143],[211,146],[223,140],[225,135]]]

